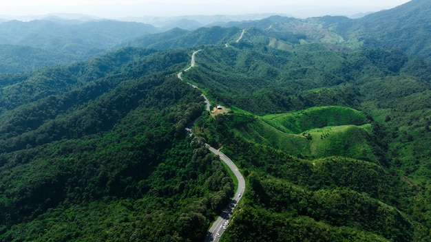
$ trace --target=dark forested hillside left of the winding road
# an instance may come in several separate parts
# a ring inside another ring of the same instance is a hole
[[[186,61],[128,48],[8,75],[0,241],[203,239],[233,183],[185,132],[204,110]]]

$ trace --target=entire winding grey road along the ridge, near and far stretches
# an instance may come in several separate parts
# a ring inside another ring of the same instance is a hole
[[[244,30],[242,31],[241,37],[244,34]],[[238,41],[240,41],[240,39],[238,39]],[[238,42],[237,41],[237,42]],[[190,67],[188,67],[187,69],[184,70],[184,72],[187,72],[189,69],[191,69],[192,67],[194,67],[195,65],[195,56],[198,52],[200,52],[201,50],[198,50],[196,52],[193,52],[193,54],[191,55],[191,64]],[[180,80],[182,80],[182,72],[178,73],[177,76]],[[193,85],[191,83],[189,83],[189,85],[191,85],[193,88],[199,89],[198,87],[196,87],[196,85]],[[209,103],[209,100],[206,96],[204,96],[204,94],[201,94],[201,96],[204,97],[205,103],[207,104],[207,111],[210,111],[210,107],[211,104]],[[191,133],[191,129],[187,129],[187,132]],[[233,195],[233,199],[231,200],[231,202],[226,206],[226,208],[223,210],[222,214],[220,214],[220,216],[218,217],[218,219],[213,223],[213,225],[211,225],[211,228],[209,228],[208,232],[207,232],[207,236],[205,237],[205,242],[216,242],[219,241],[220,236],[222,236],[224,230],[226,230],[226,228],[229,226],[229,218],[231,217],[233,208],[235,208],[235,206],[237,206],[238,202],[240,201],[242,195],[244,194],[245,191],[245,180],[244,180],[244,176],[242,176],[242,174],[240,173],[240,170],[238,170],[238,167],[235,166],[235,164],[232,162],[231,159],[229,159],[229,157],[227,157],[226,155],[224,155],[224,153],[218,151],[217,149],[209,146],[209,144],[205,144],[205,147],[209,149],[209,151],[211,151],[212,153],[214,153],[215,155],[218,155],[220,157],[220,159],[222,160],[222,162],[224,162],[224,164],[227,164],[227,166],[232,170],[233,174],[235,175],[236,179],[238,179],[238,187],[235,191],[235,195]]]

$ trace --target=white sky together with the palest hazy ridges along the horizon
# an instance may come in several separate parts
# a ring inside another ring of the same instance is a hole
[[[280,15],[308,18],[324,15],[346,16],[352,19],[366,14],[393,8],[406,0],[397,1],[14,1],[0,3],[0,23],[18,20],[45,20],[60,23],[71,21],[117,21],[147,23],[155,27],[153,32],[172,28],[196,30],[222,25],[230,21],[258,20]],[[77,23],[77,22],[74,22]]]

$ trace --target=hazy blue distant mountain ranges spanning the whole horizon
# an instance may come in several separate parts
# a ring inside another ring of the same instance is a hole
[[[270,14],[143,17],[130,18],[127,22],[79,14],[43,16],[41,20],[28,22],[3,19],[0,23],[0,48],[3,52],[0,72],[23,72],[54,63],[83,61],[127,45],[167,49],[212,44],[217,38],[219,41],[229,38],[224,34],[227,30],[220,30],[215,39],[202,39],[206,30],[214,30],[213,26],[259,28],[264,34],[273,36],[272,43],[280,44],[277,45],[279,48],[290,45],[284,41],[286,38],[281,37],[283,32],[288,32],[306,36],[304,41],[326,44],[333,50],[385,46],[418,54],[429,61],[430,50],[421,46],[430,43],[427,24],[430,17],[426,14],[430,4],[424,0],[410,1],[359,19],[329,16],[295,19]],[[195,41],[196,35],[200,35],[200,41]],[[184,38],[191,39],[185,41]],[[12,47],[14,45],[19,47]],[[43,58],[44,55],[33,58],[19,51],[23,46],[33,48],[35,52],[50,52],[52,58]],[[23,60],[22,65],[12,61],[17,58]]]

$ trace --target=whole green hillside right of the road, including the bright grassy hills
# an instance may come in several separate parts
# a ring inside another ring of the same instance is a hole
[[[203,48],[196,63],[184,78],[232,113],[202,118],[195,132],[251,186],[224,239],[430,238],[425,61],[306,43],[276,50],[249,37]]]

